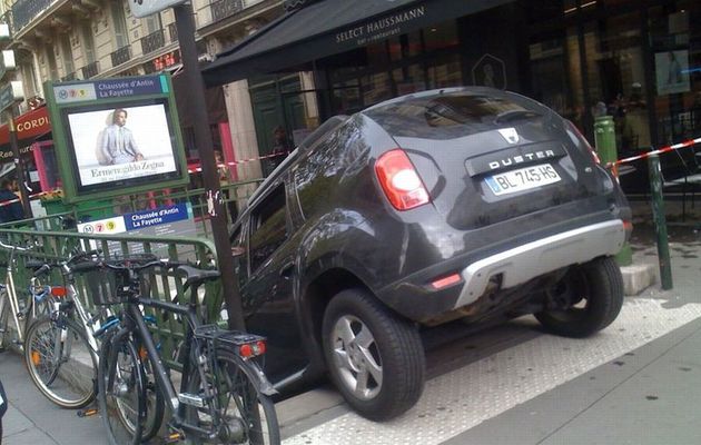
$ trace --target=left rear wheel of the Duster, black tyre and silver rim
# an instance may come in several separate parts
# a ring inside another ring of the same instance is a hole
[[[347,289],[330,300],[323,345],[332,380],[364,417],[391,419],[421,397],[425,357],[418,330],[366,291]]]

